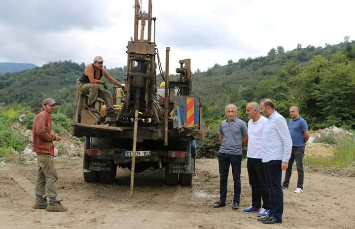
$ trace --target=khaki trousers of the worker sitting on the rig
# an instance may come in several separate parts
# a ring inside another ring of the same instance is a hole
[[[83,84],[77,82],[76,89],[89,96],[87,102],[88,105],[95,105],[96,99],[100,97],[105,101],[106,111],[114,111],[111,93],[107,90],[100,89],[99,84]]]

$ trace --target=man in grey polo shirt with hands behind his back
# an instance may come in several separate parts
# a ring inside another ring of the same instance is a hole
[[[227,197],[227,181],[229,166],[232,165],[232,174],[234,181],[234,198],[232,209],[239,208],[241,194],[241,164],[243,147],[248,142],[248,128],[244,121],[238,119],[237,107],[234,104],[228,104],[225,107],[227,119],[223,120],[218,128],[219,148],[218,164],[219,164],[219,192],[220,198],[213,204],[213,207],[224,207]]]

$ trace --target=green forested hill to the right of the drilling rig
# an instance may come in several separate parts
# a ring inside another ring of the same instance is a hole
[[[215,64],[193,75],[193,93],[204,101],[207,124],[224,118],[224,106],[235,103],[245,121],[248,101],[271,98],[276,109],[289,118],[298,105],[313,129],[332,125],[355,128],[355,41],[325,47],[300,44],[284,51],[272,48],[265,57]]]

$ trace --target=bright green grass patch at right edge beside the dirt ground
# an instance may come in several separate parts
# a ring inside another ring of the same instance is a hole
[[[344,168],[355,161],[355,141],[353,137],[346,138],[334,150],[332,158],[305,157],[304,164],[320,167]]]

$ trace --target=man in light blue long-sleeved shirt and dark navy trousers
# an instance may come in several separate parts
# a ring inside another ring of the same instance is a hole
[[[271,99],[260,101],[261,113],[268,118],[262,132],[262,162],[270,189],[271,209],[269,216],[258,219],[264,224],[282,223],[284,194],[281,186],[282,170],[288,167],[291,157],[292,140],[286,119],[275,110]]]

